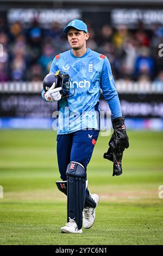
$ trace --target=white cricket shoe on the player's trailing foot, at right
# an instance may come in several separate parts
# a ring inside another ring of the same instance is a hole
[[[98,194],[90,194],[91,198],[96,202],[96,207],[98,205],[99,197]],[[88,229],[91,228],[95,221],[95,209],[92,207],[85,207],[83,210],[83,227]]]

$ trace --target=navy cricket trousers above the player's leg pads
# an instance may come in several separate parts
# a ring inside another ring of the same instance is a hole
[[[60,178],[67,180],[66,169],[71,161],[81,163],[85,170],[90,162],[99,131],[80,130],[57,135],[57,158]]]

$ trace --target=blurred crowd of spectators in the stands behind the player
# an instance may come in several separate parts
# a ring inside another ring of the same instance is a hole
[[[158,24],[147,30],[138,23],[135,29],[124,25],[112,28],[106,23],[96,29],[89,22],[87,25],[87,46],[109,58],[115,80],[163,82],[163,57],[158,47],[163,42],[163,27]],[[42,81],[54,56],[70,49],[58,23],[43,29],[36,21],[28,27],[19,22],[9,25],[2,17],[0,44],[0,82]]]

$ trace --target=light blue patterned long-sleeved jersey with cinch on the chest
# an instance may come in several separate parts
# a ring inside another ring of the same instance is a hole
[[[58,134],[86,128],[99,129],[100,89],[103,90],[104,99],[108,101],[112,118],[122,116],[120,100],[106,56],[87,48],[84,56],[78,58],[69,50],[55,56],[50,73],[58,70],[70,76],[70,89],[74,88],[72,97],[59,101]]]

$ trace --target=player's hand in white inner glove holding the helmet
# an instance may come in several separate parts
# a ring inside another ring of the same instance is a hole
[[[45,94],[45,99],[48,102],[53,102],[53,101],[58,101],[61,99],[61,94],[60,94],[60,90],[62,88],[58,87],[55,88],[55,82],[52,84],[51,88],[46,92]]]

